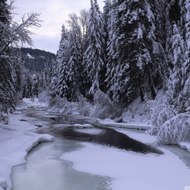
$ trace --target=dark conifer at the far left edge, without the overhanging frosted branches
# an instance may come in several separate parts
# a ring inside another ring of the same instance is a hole
[[[7,111],[14,107],[15,89],[12,81],[11,60],[8,58],[10,48],[9,39],[10,10],[5,0],[0,2],[0,111]]]

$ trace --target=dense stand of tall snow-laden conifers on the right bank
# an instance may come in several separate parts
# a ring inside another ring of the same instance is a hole
[[[100,90],[127,106],[163,88],[178,112],[190,106],[189,0],[106,0],[103,12],[91,0],[90,11],[70,15],[68,24],[54,96],[77,101]]]

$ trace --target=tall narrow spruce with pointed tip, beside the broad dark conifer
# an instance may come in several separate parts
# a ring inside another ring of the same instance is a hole
[[[90,94],[97,90],[105,91],[105,55],[104,23],[96,0],[91,0],[88,25],[88,48],[85,52],[85,64],[90,78]]]

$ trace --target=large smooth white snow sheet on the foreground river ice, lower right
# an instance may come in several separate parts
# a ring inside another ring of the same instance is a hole
[[[91,143],[61,158],[74,163],[74,169],[112,179],[112,190],[179,190],[190,184],[190,170],[177,156],[143,155]]]

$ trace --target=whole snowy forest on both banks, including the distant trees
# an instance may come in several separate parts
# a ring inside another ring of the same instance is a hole
[[[181,138],[190,138],[190,0],[106,0],[103,11],[91,0],[90,10],[69,16],[56,56],[47,56],[46,66],[35,60],[37,69],[26,66],[25,58],[34,57],[28,51],[24,58],[21,47],[32,44],[29,27],[40,26],[39,15],[18,24],[11,6],[0,3],[1,112],[45,92],[51,106],[99,103],[106,112],[99,115],[116,118],[135,99],[147,103],[162,90],[164,105],[152,109],[151,132],[164,123],[174,127],[177,118]]]

